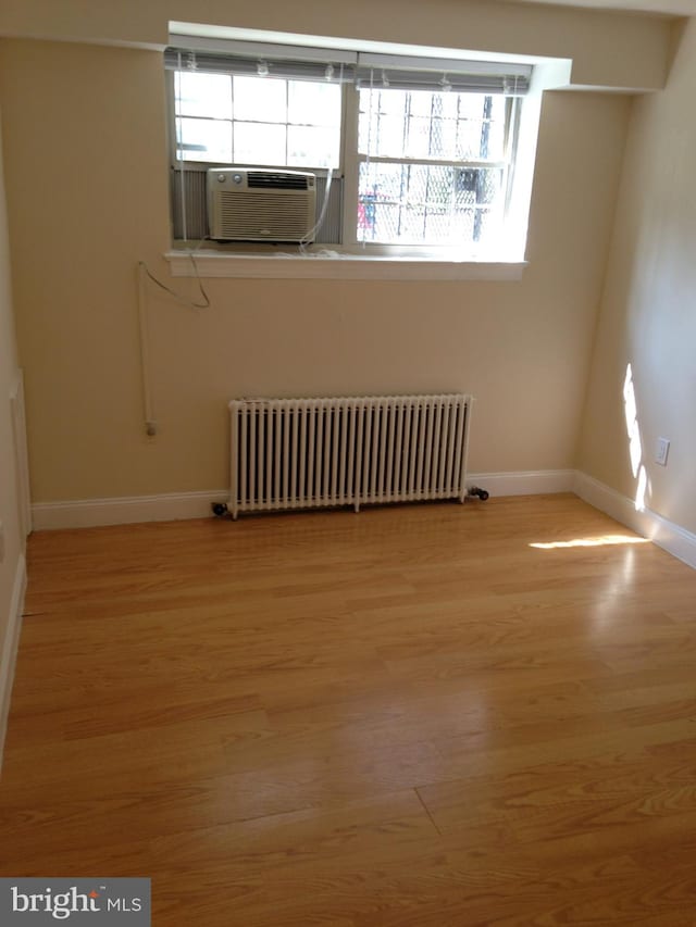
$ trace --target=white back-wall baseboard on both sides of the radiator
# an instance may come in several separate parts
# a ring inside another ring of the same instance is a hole
[[[468,474],[469,486],[487,489],[490,496],[535,496],[572,492],[575,471],[549,469],[523,473]],[[71,502],[38,502],[32,506],[36,530],[92,528],[137,522],[174,522],[206,518],[212,502],[227,502],[229,491],[171,492],[112,499],[77,499]]]

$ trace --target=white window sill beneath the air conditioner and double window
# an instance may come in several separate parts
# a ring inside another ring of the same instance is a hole
[[[524,261],[458,261],[439,256],[365,255],[337,251],[307,254],[171,250],[173,277],[236,277],[282,280],[519,280]]]

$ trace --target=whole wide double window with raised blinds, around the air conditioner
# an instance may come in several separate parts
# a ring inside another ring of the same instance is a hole
[[[504,239],[530,65],[239,45],[165,53],[183,237],[206,235],[195,175],[235,164],[315,172],[322,243],[480,256]]]

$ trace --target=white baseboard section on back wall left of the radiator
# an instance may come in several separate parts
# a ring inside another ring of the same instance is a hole
[[[50,530],[206,518],[211,514],[211,503],[226,502],[228,496],[227,489],[219,489],[210,492],[39,502],[32,506],[32,521],[35,530]]]

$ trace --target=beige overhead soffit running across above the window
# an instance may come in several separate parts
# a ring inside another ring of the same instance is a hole
[[[166,43],[170,21],[571,58],[573,82],[662,87],[667,17],[501,0],[5,0],[0,35]]]

